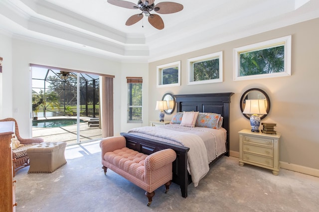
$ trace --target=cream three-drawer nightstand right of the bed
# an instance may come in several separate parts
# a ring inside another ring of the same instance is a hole
[[[265,134],[243,129],[239,133],[239,165],[245,163],[273,170],[279,174],[279,140],[281,134]]]

